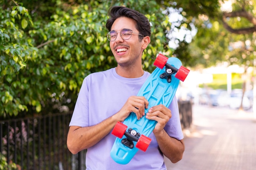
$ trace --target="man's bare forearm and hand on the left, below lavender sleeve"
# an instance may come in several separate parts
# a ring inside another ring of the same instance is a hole
[[[67,148],[71,153],[76,154],[94,146],[110,133],[118,121],[123,122],[131,112],[135,113],[138,119],[142,118],[145,115],[145,107],[148,107],[148,101],[144,97],[131,96],[120,111],[99,124],[88,127],[70,126]]]

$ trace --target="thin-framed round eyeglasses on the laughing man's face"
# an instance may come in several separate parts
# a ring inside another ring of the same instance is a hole
[[[117,39],[117,33],[120,33],[120,36],[122,37],[122,39],[127,40],[127,39],[130,39],[130,37],[132,37],[132,33],[134,32],[130,29],[123,29],[122,31],[118,31],[118,32],[115,30],[109,31],[107,33],[108,40],[115,41]],[[141,35],[139,33],[135,33],[135,34],[145,37],[144,35]]]

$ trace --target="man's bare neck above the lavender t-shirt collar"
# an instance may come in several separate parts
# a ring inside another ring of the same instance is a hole
[[[119,76],[125,78],[139,78],[143,76],[144,70],[140,68],[123,68],[120,65],[117,65],[116,72]]]

